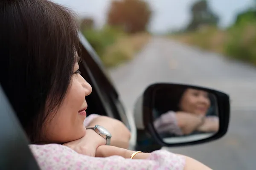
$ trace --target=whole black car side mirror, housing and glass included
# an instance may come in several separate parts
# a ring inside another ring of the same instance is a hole
[[[150,85],[144,91],[140,108],[143,127],[165,147],[219,139],[227,133],[229,125],[229,96],[198,86]]]

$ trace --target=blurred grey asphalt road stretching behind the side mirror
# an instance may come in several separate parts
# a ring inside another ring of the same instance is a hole
[[[155,82],[206,86],[230,95],[231,119],[226,136],[215,142],[172,147],[214,170],[254,170],[256,161],[256,68],[218,54],[154,37],[135,59],[110,71],[125,104],[134,102]]]

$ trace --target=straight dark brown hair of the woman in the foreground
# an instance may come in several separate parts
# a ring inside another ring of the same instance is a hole
[[[75,17],[48,0],[1,0],[0,24],[0,83],[29,139],[38,142],[73,75]]]

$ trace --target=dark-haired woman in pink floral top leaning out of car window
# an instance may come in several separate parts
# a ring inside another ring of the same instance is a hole
[[[99,144],[95,157],[71,149],[89,134],[83,123],[85,97],[92,91],[79,74],[73,15],[47,0],[2,0],[0,9],[1,85],[41,169],[209,169],[163,150],[136,153],[130,160],[134,151],[115,146]],[[61,145],[67,142],[73,147]]]

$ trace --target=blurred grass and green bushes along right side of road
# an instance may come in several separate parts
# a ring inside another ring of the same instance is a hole
[[[227,30],[208,28],[203,31],[172,35],[170,38],[256,65],[255,22],[248,22]]]

